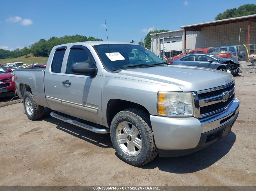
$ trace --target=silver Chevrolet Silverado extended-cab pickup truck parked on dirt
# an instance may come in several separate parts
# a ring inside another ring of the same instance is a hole
[[[238,117],[230,73],[168,65],[133,43],[55,46],[46,68],[14,75],[29,119],[42,118],[47,107],[57,119],[110,133],[118,156],[136,166],[222,140]]]

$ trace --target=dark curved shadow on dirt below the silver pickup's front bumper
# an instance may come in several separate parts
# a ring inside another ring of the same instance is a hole
[[[140,168],[154,169],[158,167],[159,170],[165,172],[180,174],[197,172],[224,157],[234,145],[235,140],[236,135],[231,131],[223,141],[217,141],[200,151],[175,158],[161,158],[158,156]]]

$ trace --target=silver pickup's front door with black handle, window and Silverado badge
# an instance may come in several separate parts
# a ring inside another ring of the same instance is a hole
[[[97,123],[102,121],[101,110],[98,110],[101,108],[102,76],[72,72],[71,67],[77,62],[96,65],[87,47],[74,45],[70,48],[61,80],[64,83],[61,89],[62,104],[66,114]]]

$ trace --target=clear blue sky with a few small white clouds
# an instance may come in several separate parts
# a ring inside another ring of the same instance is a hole
[[[0,48],[14,50],[40,39],[92,36],[135,43],[148,31],[214,21],[218,13],[255,1],[232,0],[0,0]]]

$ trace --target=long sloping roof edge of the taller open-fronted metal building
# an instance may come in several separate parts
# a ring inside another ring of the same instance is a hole
[[[235,17],[235,18],[229,18],[229,19],[222,19],[222,20],[218,20],[218,21],[210,21],[210,22],[204,22],[204,23],[198,23],[198,24],[191,24],[191,25],[185,25],[185,26],[181,26],[181,28],[189,28],[189,27],[202,27],[202,25],[219,25],[219,24],[226,24],[228,22],[233,22],[233,21],[240,21],[240,20],[245,20],[248,18],[256,18],[256,14],[251,14],[251,15],[247,15],[247,16],[242,16],[242,17]]]

